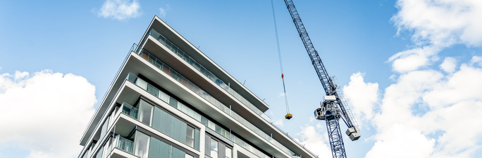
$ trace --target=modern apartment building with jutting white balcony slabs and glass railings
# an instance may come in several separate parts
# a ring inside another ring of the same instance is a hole
[[[269,106],[155,16],[80,140],[79,158],[316,158]]]

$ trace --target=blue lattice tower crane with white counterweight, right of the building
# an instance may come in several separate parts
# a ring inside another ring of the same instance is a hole
[[[303,22],[301,22],[301,18],[296,11],[295,4],[293,4],[293,0],[284,0],[284,2],[286,3],[286,7],[291,14],[291,18],[293,18],[293,22],[295,23],[300,38],[305,45],[306,51],[311,59],[311,63],[315,67],[316,73],[320,78],[323,89],[326,92],[323,101],[320,103],[321,107],[317,108],[314,112],[315,118],[326,121],[326,128],[328,130],[328,138],[330,140],[333,158],[347,158],[341,135],[339,119],[342,118],[343,122],[347,124],[348,130],[345,133],[349,136],[351,141],[358,140],[362,133],[358,129],[355,118],[345,102],[340,88],[335,83],[336,79],[328,75],[325,66],[323,66],[323,63],[321,62],[318,52],[316,52],[315,48],[313,47],[305,26],[303,26]]]

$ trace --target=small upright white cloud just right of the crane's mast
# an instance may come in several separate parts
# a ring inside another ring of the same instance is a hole
[[[363,76],[360,72],[351,75],[348,86],[343,86],[343,93],[348,105],[353,106],[356,118],[370,119],[373,117],[374,105],[378,101],[378,83],[365,83]]]

